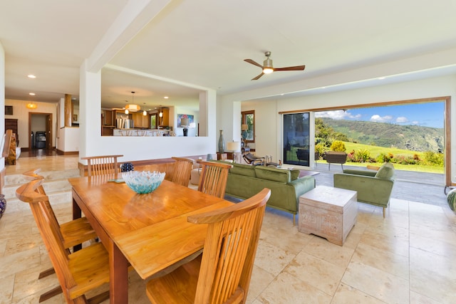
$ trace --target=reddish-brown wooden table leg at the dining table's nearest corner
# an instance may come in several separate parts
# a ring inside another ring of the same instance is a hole
[[[109,254],[110,303],[128,303],[128,261],[111,241]]]

